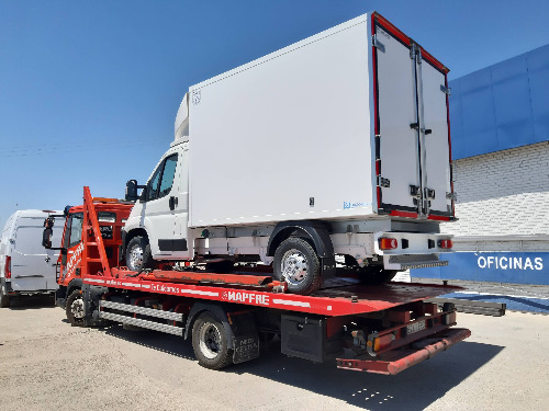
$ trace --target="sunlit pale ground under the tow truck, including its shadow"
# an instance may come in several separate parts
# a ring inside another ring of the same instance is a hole
[[[290,358],[210,370],[189,341],[70,327],[51,300],[0,309],[0,410],[547,410],[549,317],[458,313],[472,335],[396,376]]]

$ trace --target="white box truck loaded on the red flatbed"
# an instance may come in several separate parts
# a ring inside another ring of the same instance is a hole
[[[127,266],[261,261],[311,294],[336,262],[374,283],[445,265],[447,73],[373,12],[190,87],[170,149],[126,185]]]

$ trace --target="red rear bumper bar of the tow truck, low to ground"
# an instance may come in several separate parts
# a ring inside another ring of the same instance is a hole
[[[416,341],[408,350],[391,351],[378,356],[377,359],[337,358],[337,368],[396,375],[441,351],[448,350],[470,335],[471,331],[468,329],[449,329]]]

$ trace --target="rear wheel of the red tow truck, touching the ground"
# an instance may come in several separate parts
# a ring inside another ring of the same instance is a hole
[[[192,327],[192,349],[199,364],[221,369],[233,364],[233,350],[228,350],[228,335],[223,323],[209,311],[202,312]]]

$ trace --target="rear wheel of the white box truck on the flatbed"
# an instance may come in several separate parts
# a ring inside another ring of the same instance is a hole
[[[309,295],[322,285],[321,263],[313,247],[304,239],[290,237],[274,252],[274,278],[285,281],[288,290]]]

